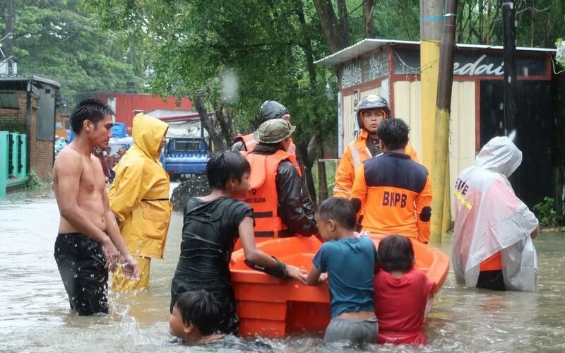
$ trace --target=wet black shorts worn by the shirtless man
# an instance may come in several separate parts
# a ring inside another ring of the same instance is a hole
[[[108,313],[108,271],[102,245],[80,233],[59,234],[55,261],[78,315]]]

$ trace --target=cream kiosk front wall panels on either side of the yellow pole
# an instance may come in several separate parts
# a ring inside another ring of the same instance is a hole
[[[409,124],[410,143],[421,154],[422,119],[420,82],[394,83],[396,117]],[[475,83],[454,82],[451,93],[451,131],[449,138],[449,179],[451,194],[460,171],[475,162]],[[453,214],[453,203],[452,210]]]

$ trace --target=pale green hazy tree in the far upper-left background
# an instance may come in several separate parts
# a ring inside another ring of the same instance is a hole
[[[56,80],[71,102],[77,92],[143,88],[143,55],[118,35],[102,30],[79,4],[13,0],[18,73]]]

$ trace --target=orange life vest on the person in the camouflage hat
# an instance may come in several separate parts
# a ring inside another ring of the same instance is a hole
[[[295,155],[278,150],[273,155],[243,153],[251,164],[249,195],[244,200],[253,208],[256,238],[290,237],[288,228],[278,215],[277,170],[280,162],[289,160],[302,177]]]

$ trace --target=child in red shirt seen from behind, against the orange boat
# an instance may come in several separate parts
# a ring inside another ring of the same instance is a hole
[[[389,235],[377,252],[381,270],[374,280],[376,342],[426,345],[422,323],[434,283],[414,268],[414,249],[408,238]]]

